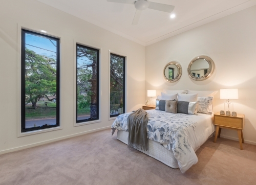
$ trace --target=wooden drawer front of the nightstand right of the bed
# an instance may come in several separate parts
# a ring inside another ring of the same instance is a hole
[[[240,118],[215,116],[215,124],[227,127],[242,128],[243,122]]]

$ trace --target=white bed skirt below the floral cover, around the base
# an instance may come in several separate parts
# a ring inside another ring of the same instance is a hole
[[[126,145],[128,144],[128,132],[117,130],[117,139]],[[141,151],[140,152],[151,156],[159,161],[161,161],[163,164],[172,167],[172,168],[179,168],[178,161],[174,157],[174,153],[172,150],[167,150],[162,145],[160,145],[158,142],[148,140],[148,151]]]

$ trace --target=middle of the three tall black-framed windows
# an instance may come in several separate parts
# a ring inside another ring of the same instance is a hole
[[[99,119],[99,50],[76,45],[76,123]]]

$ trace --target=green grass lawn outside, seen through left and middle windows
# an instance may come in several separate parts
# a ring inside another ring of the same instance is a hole
[[[45,102],[43,101],[38,101],[37,106],[39,106],[36,109],[30,109],[32,104],[26,105],[26,119],[36,119],[36,118],[52,118],[56,117],[56,103],[52,102],[47,102],[47,108],[45,105]],[[83,115],[83,114],[90,114],[90,108],[84,108],[80,109],[78,106],[77,109],[77,114],[78,115]]]

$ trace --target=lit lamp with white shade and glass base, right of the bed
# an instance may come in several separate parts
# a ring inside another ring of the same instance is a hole
[[[221,89],[221,99],[227,100],[227,102],[224,104],[224,110],[227,115],[227,111],[232,112],[234,109],[233,103],[231,103],[231,100],[237,100],[238,99],[238,89],[232,88],[232,89]],[[229,115],[230,115],[230,112]]]

